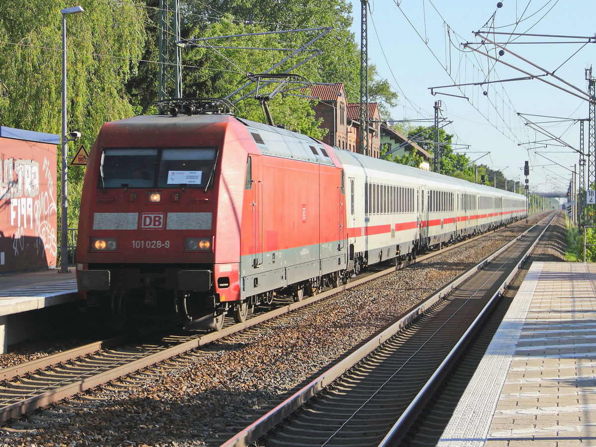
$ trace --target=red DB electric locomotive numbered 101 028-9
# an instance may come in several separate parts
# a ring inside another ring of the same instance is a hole
[[[308,136],[210,101],[106,123],[89,154],[76,250],[88,310],[120,322],[244,321],[274,293],[349,268],[342,169]],[[201,113],[197,113],[197,111]]]

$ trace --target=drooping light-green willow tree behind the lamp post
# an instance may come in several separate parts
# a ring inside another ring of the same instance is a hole
[[[62,8],[59,0],[4,0],[0,14],[0,123],[61,133]],[[132,116],[123,88],[141,57],[145,10],[136,0],[83,0],[67,16],[68,129],[90,148],[104,122]],[[71,156],[74,155],[71,148]],[[60,159],[58,147],[58,159]],[[60,169],[60,163],[58,163]],[[69,227],[77,225],[83,167],[69,169]],[[60,179],[60,175],[58,175]],[[60,188],[58,187],[58,190]]]

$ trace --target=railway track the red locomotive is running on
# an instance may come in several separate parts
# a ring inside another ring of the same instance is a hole
[[[445,250],[439,253],[445,253]],[[437,252],[420,256],[418,260],[435,254]],[[253,315],[243,324],[228,324],[224,330],[217,333],[191,337],[169,336],[154,343],[133,343],[123,339],[105,340],[0,370],[0,380],[3,380],[0,385],[0,420],[19,418],[40,406],[85,393],[86,390],[142,370],[164,359],[212,343],[317,300],[326,299],[338,290],[355,287],[393,271],[395,267],[375,272],[366,278],[359,278],[339,289],[325,291],[299,303],[282,303],[281,308],[266,314]]]

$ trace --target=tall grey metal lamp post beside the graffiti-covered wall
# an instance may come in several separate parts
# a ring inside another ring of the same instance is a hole
[[[68,178],[67,144],[71,141],[66,135],[66,15],[82,13],[83,7],[73,6],[60,10],[62,13],[62,138],[61,138],[61,200],[60,200],[60,273],[69,271],[68,247],[68,206],[66,199],[66,182]],[[80,136],[77,135],[77,136]],[[76,138],[73,138],[76,139]]]

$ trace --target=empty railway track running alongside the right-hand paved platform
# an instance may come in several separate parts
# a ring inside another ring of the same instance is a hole
[[[222,446],[398,445],[549,224],[535,225]]]

